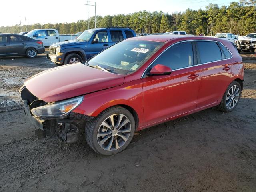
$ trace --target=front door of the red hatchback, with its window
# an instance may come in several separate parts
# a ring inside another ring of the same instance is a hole
[[[144,125],[196,109],[200,86],[200,67],[196,63],[192,42],[170,46],[148,68],[156,64],[172,69],[170,75],[147,76],[143,82]]]

